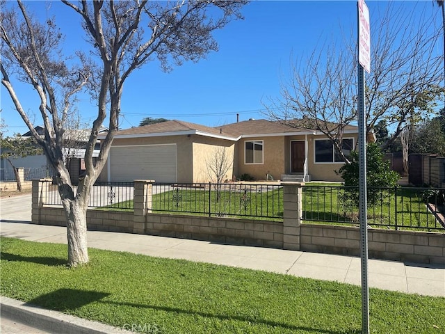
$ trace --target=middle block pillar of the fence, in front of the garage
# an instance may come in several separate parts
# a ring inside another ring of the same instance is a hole
[[[133,233],[145,233],[147,213],[152,212],[153,183],[154,180],[134,180]]]

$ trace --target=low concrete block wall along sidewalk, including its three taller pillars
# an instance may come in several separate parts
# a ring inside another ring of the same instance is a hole
[[[32,222],[66,225],[63,207],[45,205],[46,187],[33,180]],[[50,181],[44,181],[50,182]],[[267,246],[319,253],[359,255],[359,228],[301,223],[301,184],[284,183],[283,221],[262,221],[225,217],[154,214],[151,184],[135,182],[133,212],[88,209],[89,230],[152,234],[200,239],[228,244]],[[395,230],[368,230],[369,257],[445,264],[445,234]]]

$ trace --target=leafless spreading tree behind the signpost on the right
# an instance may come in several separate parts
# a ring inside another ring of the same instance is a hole
[[[366,76],[366,132],[385,120],[394,132],[387,147],[407,123],[425,118],[444,94],[442,55],[437,54],[441,31],[433,29],[428,4],[407,13],[404,3],[389,3],[384,15],[373,13],[371,73]],[[431,5],[429,5],[431,6]],[[292,65],[291,78],[282,84],[282,97],[270,99],[268,116],[296,127],[322,132],[341,152],[347,125],[357,120],[356,45],[323,47],[307,62]],[[298,119],[298,121],[294,121]]]

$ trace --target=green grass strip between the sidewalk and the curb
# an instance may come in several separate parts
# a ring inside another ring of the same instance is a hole
[[[1,295],[143,333],[360,333],[360,288],[215,264],[1,238]],[[445,298],[370,289],[371,333],[444,333]],[[129,325],[126,326],[129,328]],[[156,331],[155,331],[156,330]]]

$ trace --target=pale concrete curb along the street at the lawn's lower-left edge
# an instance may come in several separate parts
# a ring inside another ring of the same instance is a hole
[[[39,306],[1,296],[1,318],[17,321],[50,333],[64,334],[130,334],[124,329],[65,315],[64,313],[45,310]]]

